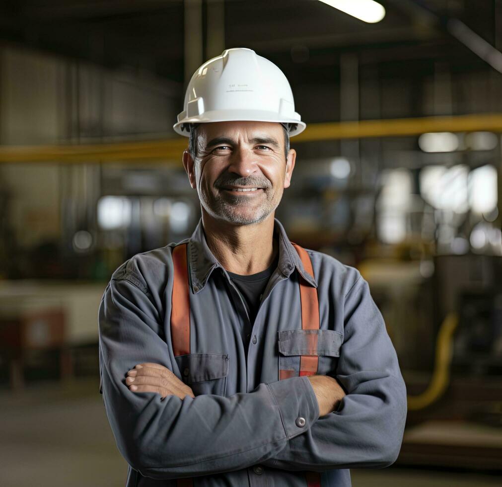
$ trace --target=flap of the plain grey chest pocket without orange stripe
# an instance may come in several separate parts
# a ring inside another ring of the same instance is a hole
[[[221,379],[228,374],[228,355],[188,353],[175,357],[185,383]]]

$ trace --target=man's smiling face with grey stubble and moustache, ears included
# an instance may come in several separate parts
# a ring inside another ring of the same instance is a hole
[[[296,152],[284,154],[284,130],[273,122],[213,122],[197,129],[195,161],[183,164],[204,210],[238,225],[275,212],[290,185]]]

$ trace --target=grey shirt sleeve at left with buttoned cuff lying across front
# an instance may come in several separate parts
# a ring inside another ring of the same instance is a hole
[[[141,288],[140,288],[141,287]],[[156,362],[173,370],[163,318],[138,275],[112,278],[98,314],[103,401],[117,447],[142,475],[172,479],[238,470],[281,451],[307,431],[319,407],[307,377],[260,384],[230,397],[134,393],[128,370]],[[296,419],[302,417],[305,424]]]

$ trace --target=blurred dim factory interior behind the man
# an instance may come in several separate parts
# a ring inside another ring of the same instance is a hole
[[[290,80],[307,130],[277,217],[361,271],[407,383],[398,461],[353,485],[501,484],[502,1],[379,3],[0,3],[2,485],[124,485],[97,309],[200,218],[172,125],[229,47]]]

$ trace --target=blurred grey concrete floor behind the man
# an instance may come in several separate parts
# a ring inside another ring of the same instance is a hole
[[[106,419],[98,382],[39,382],[0,392],[0,485],[123,487],[127,465]],[[352,469],[353,487],[484,487],[500,476],[390,467]]]

